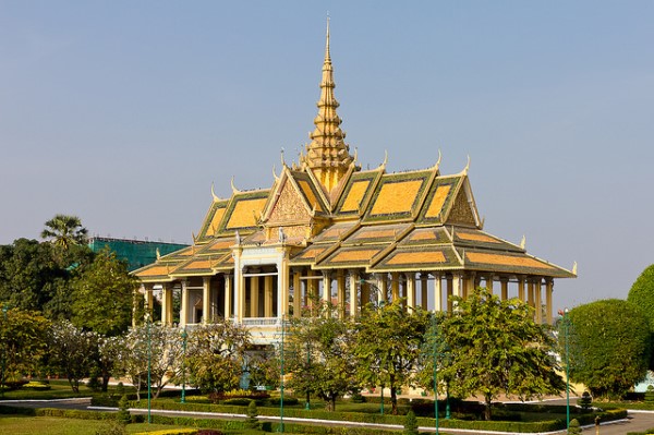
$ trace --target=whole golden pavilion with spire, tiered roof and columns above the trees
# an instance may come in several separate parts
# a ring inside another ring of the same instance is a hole
[[[180,326],[231,318],[254,341],[275,340],[280,321],[319,298],[341,317],[371,301],[405,299],[407,310],[452,310],[483,285],[520,298],[537,322],[552,323],[555,278],[576,277],[483,230],[468,167],[441,174],[440,158],[416,171],[362,170],[337,114],[329,27],[318,113],[298,164],[272,172],[267,190],[213,202],[193,245],[136,270],[147,306],[156,294],[171,324],[181,292]]]

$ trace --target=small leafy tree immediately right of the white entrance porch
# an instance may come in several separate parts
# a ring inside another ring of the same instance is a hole
[[[338,318],[329,302],[317,306],[317,315],[291,319],[284,357],[292,373],[289,388],[316,394],[336,410],[336,399],[356,388],[356,364],[352,358],[352,324]]]

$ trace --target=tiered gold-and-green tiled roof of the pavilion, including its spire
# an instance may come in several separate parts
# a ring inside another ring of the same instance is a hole
[[[269,190],[216,196],[194,245],[161,256],[134,274],[144,282],[233,270],[237,250],[284,246],[291,267],[363,268],[366,273],[481,270],[574,277],[567,270],[483,231],[468,177],[431,168],[362,171],[336,113],[329,26],[318,114],[299,165],[272,171]]]

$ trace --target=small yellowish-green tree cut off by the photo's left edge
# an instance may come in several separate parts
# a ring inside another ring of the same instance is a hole
[[[50,322],[38,312],[8,310],[0,313],[0,351],[4,382],[35,373],[46,353]]]

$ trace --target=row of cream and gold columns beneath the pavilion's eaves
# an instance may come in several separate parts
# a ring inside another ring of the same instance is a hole
[[[331,302],[338,316],[355,317],[368,302],[383,303],[404,298],[408,310],[452,311],[451,297],[467,298],[476,287],[499,290],[499,298],[518,298],[534,309],[536,323],[553,323],[554,280],[538,276],[504,276],[474,271],[409,271],[365,274],[361,269],[312,270],[289,268],[278,273],[232,274],[182,279],[155,286],[142,286],[146,306],[153,305],[153,292],[160,291],[161,322],[172,324],[173,288],[181,292],[179,324],[208,323],[216,318],[257,325],[282,316],[299,316],[314,301]],[[213,285],[214,282],[214,285]],[[238,286],[234,286],[238,282]],[[279,282],[289,282],[281,287]],[[499,289],[496,289],[499,282]],[[202,313],[202,315],[199,314]]]

